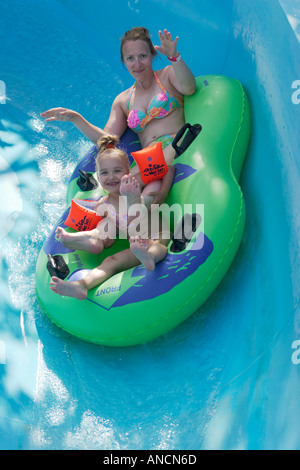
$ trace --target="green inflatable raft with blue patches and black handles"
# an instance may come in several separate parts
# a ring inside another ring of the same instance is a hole
[[[196,80],[196,93],[184,99],[188,130],[180,146],[173,143],[177,150],[173,163],[176,176],[166,203],[176,210],[174,237],[165,260],[152,272],[138,266],[116,274],[92,289],[84,301],[52,292],[51,275],[80,279],[104,257],[129,245],[127,240],[116,240],[101,255],[92,255],[67,249],[56,239],[56,228],[66,228],[72,198],[97,200],[103,194],[93,178],[96,147],[72,175],[67,191],[69,207],[45,241],[36,267],[36,290],[42,308],[71,335],[117,347],[153,340],[197,311],[237,253],[245,226],[245,204],[238,181],[250,135],[249,103],[237,80],[215,75]],[[122,147],[128,154],[138,150],[136,140],[129,130],[122,137]],[[180,230],[183,235],[178,238]]]

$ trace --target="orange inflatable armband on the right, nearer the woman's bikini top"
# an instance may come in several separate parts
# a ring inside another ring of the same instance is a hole
[[[131,155],[140,169],[142,181],[146,184],[162,179],[168,172],[161,142],[138,152],[132,152]]]

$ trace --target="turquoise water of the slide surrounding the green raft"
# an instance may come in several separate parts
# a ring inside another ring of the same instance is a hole
[[[287,0],[1,3],[0,448],[300,448],[299,18]],[[136,25],[154,42],[158,29],[178,34],[195,75],[245,86],[247,226],[198,312],[150,344],[109,349],[58,330],[35,296],[38,253],[90,147],[39,113],[66,106],[103,126],[131,84],[119,38]]]

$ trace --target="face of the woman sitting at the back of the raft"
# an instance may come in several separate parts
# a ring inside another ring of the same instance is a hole
[[[136,41],[125,42],[123,49],[123,59],[128,72],[135,80],[145,78],[149,72],[152,74],[152,62],[154,56],[145,41],[137,39]]]

